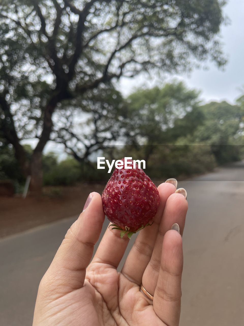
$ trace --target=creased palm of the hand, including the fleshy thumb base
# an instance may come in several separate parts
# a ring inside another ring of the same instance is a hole
[[[86,325],[130,326],[165,325],[156,315],[149,300],[140,292],[137,284],[106,264],[93,263],[87,270],[85,286],[61,296],[47,314],[46,323],[67,325],[67,319],[74,326]],[[88,285],[88,284],[87,284]],[[86,304],[84,305],[84,298]],[[94,301],[95,299],[95,301]],[[60,307],[63,307],[60,310]],[[72,316],[72,317],[71,317]],[[44,323],[45,324],[45,323]]]

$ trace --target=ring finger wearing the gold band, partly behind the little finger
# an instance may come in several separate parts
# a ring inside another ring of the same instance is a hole
[[[181,235],[183,234],[187,209],[188,203],[182,194],[174,193],[169,196],[158,230],[152,257],[142,276],[142,285],[151,295],[154,295],[158,280],[164,234],[171,229],[174,223],[179,224],[180,233]]]

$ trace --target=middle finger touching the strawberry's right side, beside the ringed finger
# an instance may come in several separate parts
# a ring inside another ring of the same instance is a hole
[[[175,186],[168,182],[159,185],[157,189],[160,204],[154,217],[154,223],[139,232],[121,270],[122,274],[138,285],[141,284],[142,275],[151,259],[166,201],[176,190]]]

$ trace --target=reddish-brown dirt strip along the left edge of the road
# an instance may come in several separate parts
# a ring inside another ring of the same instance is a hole
[[[105,185],[45,187],[40,197],[0,197],[0,238],[70,216],[79,216],[90,192]]]

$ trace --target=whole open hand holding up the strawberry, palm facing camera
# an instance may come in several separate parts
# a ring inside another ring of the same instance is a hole
[[[159,185],[152,226],[141,230],[120,272],[129,239],[108,228],[91,260],[104,222],[101,196],[68,230],[38,289],[34,326],[178,326],[187,201],[171,183]],[[181,235],[170,230],[178,223]],[[90,264],[89,264],[90,262]],[[153,301],[141,291],[154,296]]]

